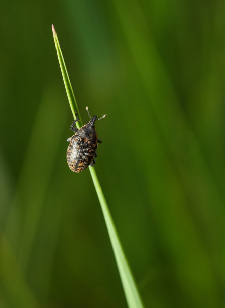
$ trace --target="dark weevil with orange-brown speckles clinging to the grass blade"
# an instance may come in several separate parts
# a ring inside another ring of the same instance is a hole
[[[94,123],[106,117],[106,114],[97,119],[97,116],[90,116],[88,107],[86,107],[86,110],[91,120],[80,129],[74,127],[74,124],[80,120],[75,111],[76,120],[70,126],[75,135],[67,139],[67,141],[70,141],[67,149],[67,163],[74,172],[81,172],[89,165],[93,166],[95,164],[96,149],[98,143],[101,143],[101,140],[97,138]]]

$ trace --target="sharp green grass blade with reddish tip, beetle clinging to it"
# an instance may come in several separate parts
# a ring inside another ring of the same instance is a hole
[[[77,103],[75,100],[75,96],[73,93],[73,89],[70,83],[70,79],[67,73],[67,69],[66,69],[66,65],[63,59],[63,54],[62,51],[60,49],[60,44],[57,38],[57,34],[55,32],[54,26],[52,25],[52,31],[53,31],[53,37],[54,37],[54,42],[55,42],[55,47],[57,49],[57,55],[58,55],[58,59],[59,59],[59,63],[60,63],[60,68],[61,68],[61,72],[63,75],[63,80],[64,80],[64,84],[65,84],[65,88],[67,91],[67,96],[68,96],[68,100],[70,103],[70,107],[71,107],[71,111],[73,113],[74,119],[76,119],[74,110],[77,111],[78,117],[79,119],[81,119],[80,114],[79,114],[79,110],[77,107]],[[76,122],[77,128],[80,128],[78,122]],[[82,125],[82,124],[81,124]],[[124,288],[124,292],[125,292],[125,296],[127,299],[127,303],[128,306],[131,308],[139,308],[139,307],[143,307],[143,303],[140,297],[140,294],[138,292],[134,277],[132,275],[131,269],[129,267],[127,258],[125,256],[123,247],[121,245],[118,233],[117,233],[117,229],[115,227],[113,218],[111,217],[110,211],[108,209],[104,194],[102,192],[100,183],[98,181],[96,172],[94,170],[94,168],[89,166],[89,170],[91,173],[91,177],[94,183],[94,187],[101,205],[101,209],[103,212],[103,216],[105,219],[105,223],[108,229],[108,234],[109,234],[109,238],[111,241],[111,245],[113,246],[113,250],[114,250],[114,254],[115,254],[115,258],[116,258],[116,262],[117,262],[117,266],[118,266],[118,270],[120,273],[120,277],[121,277],[121,281],[122,281],[122,285]]]

